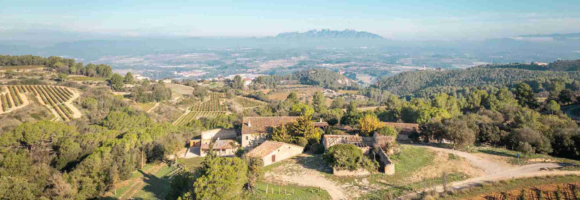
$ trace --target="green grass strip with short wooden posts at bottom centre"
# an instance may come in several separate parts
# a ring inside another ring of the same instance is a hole
[[[268,187],[268,193],[266,194],[266,187]],[[274,194],[272,194],[274,190]],[[286,194],[284,194],[284,190]],[[280,194],[278,194],[280,191]],[[292,191],[294,194],[292,194]],[[318,191],[318,188],[314,187],[302,187],[302,186],[276,186],[271,183],[265,183],[258,181],[256,190],[251,195],[250,199],[280,199],[280,200],[291,200],[291,199],[331,199],[330,195],[326,190]]]

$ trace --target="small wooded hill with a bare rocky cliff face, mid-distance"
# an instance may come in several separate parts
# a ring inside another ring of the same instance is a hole
[[[330,89],[358,89],[356,81],[346,78],[342,74],[324,69],[310,69],[294,72],[289,79],[300,81],[304,85],[322,86]]]

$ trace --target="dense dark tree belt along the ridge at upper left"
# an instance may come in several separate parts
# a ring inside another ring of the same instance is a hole
[[[85,75],[87,77],[110,78],[113,75],[111,66],[106,64],[89,63],[85,66],[83,63],[77,63],[74,59],[64,59],[59,56],[0,55],[0,67],[2,66],[47,66],[59,73]]]

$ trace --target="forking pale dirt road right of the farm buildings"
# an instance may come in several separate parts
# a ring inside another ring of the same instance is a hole
[[[509,165],[502,161],[494,161],[489,158],[479,157],[474,154],[463,151],[453,151],[447,148],[439,148],[425,145],[415,144],[414,146],[425,147],[435,151],[456,153],[458,156],[466,158],[472,165],[477,166],[485,171],[484,176],[474,177],[472,179],[467,179],[463,181],[458,181],[451,184],[451,188],[460,189],[464,187],[479,186],[483,183],[490,181],[500,181],[505,179],[523,178],[523,177],[534,177],[534,176],[546,176],[546,175],[565,175],[565,174],[578,174],[580,171],[540,171],[541,168],[557,168],[560,166],[567,166],[563,163],[533,163],[524,166]],[[431,190],[433,188],[426,188],[425,190]],[[437,191],[443,191],[443,186],[435,187]],[[397,199],[405,199],[411,197],[412,195],[418,194],[417,192],[412,192],[407,195],[398,197]]]

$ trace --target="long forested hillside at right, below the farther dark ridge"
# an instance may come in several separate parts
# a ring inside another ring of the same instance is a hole
[[[580,71],[530,71],[514,68],[471,68],[448,71],[408,71],[393,77],[379,79],[376,88],[405,95],[433,87],[464,87],[483,85],[510,85],[538,78],[580,79]]]

